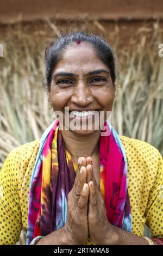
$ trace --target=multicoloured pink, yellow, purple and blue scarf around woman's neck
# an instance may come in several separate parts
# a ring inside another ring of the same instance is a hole
[[[131,231],[131,210],[127,190],[127,159],[114,128],[99,138],[100,191],[108,221]],[[58,119],[43,133],[32,172],[29,191],[26,244],[65,225],[67,196],[77,173],[77,164],[65,150]]]

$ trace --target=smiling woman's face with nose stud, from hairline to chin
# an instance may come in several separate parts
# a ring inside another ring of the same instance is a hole
[[[68,124],[68,129],[78,135],[95,132],[95,121],[101,120],[100,113],[106,120],[106,112],[111,111],[114,97],[115,87],[110,70],[96,56],[93,47],[84,42],[68,46],[52,72],[50,92],[53,110],[61,113],[63,120],[68,117],[66,120],[76,127],[72,129]],[[69,112],[65,112],[65,107],[69,108],[66,108]],[[92,130],[88,128],[89,122],[92,123]],[[86,125],[83,125],[85,130],[82,123]],[[65,126],[65,121],[63,124]]]

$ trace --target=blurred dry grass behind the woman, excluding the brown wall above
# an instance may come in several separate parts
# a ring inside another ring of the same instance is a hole
[[[40,138],[53,121],[42,88],[43,53],[60,28],[49,20],[45,23],[50,33],[43,29],[26,33],[21,25],[9,26],[1,40],[0,168],[12,149]],[[156,22],[153,27],[137,28],[136,39],[127,39],[121,47],[117,25],[109,33],[97,21],[91,26],[105,35],[115,52],[117,96],[111,124],[118,133],[147,141],[163,154],[163,57],[158,55],[163,29]]]

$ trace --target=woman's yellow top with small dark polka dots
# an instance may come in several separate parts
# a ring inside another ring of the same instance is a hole
[[[133,233],[163,237],[163,160],[152,145],[120,136],[128,161]],[[0,245],[14,245],[27,230],[29,186],[40,140],[11,151],[0,170]],[[92,241],[87,241],[91,244]]]

